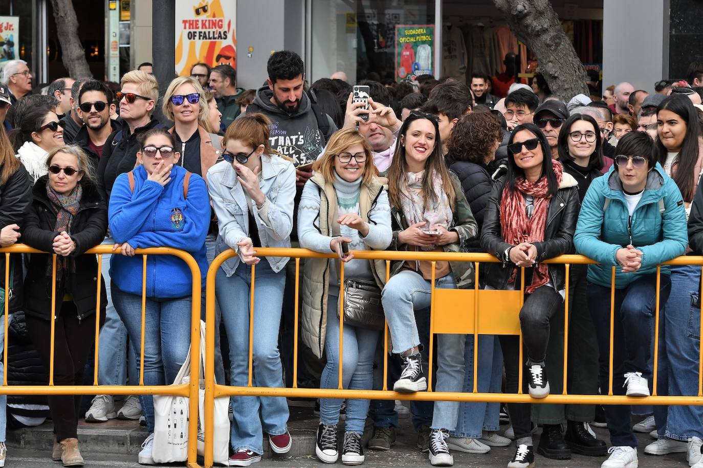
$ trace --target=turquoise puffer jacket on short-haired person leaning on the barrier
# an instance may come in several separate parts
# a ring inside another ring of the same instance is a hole
[[[606,210],[605,200],[610,199]],[[664,201],[664,212],[659,200]],[[623,273],[615,253],[631,243],[643,252],[642,265],[633,273]],[[588,265],[588,281],[610,287],[615,269],[615,288],[626,288],[645,274],[657,272],[657,265],[683,255],[688,246],[683,197],[676,182],[664,173],[659,163],[647,176],[647,185],[630,219],[622,184],[615,166],[603,177],[593,180],[581,203],[574,234],[576,252],[598,262]],[[670,274],[662,267],[662,274]]]

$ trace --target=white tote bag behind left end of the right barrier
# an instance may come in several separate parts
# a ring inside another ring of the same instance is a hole
[[[200,387],[198,389],[198,455],[205,456],[205,322],[200,321]],[[213,377],[214,380],[214,377]],[[216,382],[217,383],[217,382]],[[214,440],[212,461],[229,463],[229,397],[219,396],[214,405]]]

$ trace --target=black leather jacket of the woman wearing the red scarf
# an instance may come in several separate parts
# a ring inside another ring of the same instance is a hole
[[[489,263],[486,266],[486,284],[496,289],[505,289],[515,267],[505,250],[512,244],[503,241],[501,236],[501,196],[503,196],[505,178],[498,180],[489,196],[484,213],[484,225],[481,232],[481,246],[502,263]],[[549,260],[568,253],[574,253],[574,230],[579,218],[579,191],[576,181],[567,173],[556,196],[549,201],[547,225],[544,229],[544,241],[535,242],[537,262]],[[550,264],[549,277],[555,290],[564,288],[564,265]],[[526,283],[530,280],[525,276]]]

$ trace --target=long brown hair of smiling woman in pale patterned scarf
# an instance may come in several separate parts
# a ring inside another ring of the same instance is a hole
[[[430,201],[437,203],[439,201],[439,194],[434,193],[434,187],[432,187],[432,178],[434,174],[439,174],[441,178],[442,190],[446,193],[447,199],[449,199],[449,204],[452,211],[454,210],[454,203],[456,202],[456,193],[454,193],[454,187],[451,185],[451,179],[449,178],[449,170],[446,168],[444,163],[444,156],[441,154],[441,140],[439,139],[439,123],[437,117],[431,114],[425,114],[423,112],[411,112],[410,116],[404,121],[403,126],[400,128],[400,135],[398,138],[403,138],[405,140],[406,133],[410,129],[411,123],[416,120],[425,119],[432,123],[434,126],[434,135],[436,136],[434,140],[434,149],[427,157],[425,161],[425,178],[423,180],[423,199],[425,199],[425,210],[430,208]],[[391,206],[394,208],[401,208],[403,187],[401,185],[407,185],[407,175],[408,173],[408,163],[405,160],[405,147],[399,141],[396,145],[395,154],[393,155],[393,161],[391,166],[388,168],[388,196],[391,202]]]

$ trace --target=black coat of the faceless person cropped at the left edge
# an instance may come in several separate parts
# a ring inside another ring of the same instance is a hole
[[[4,185],[0,185],[0,229],[8,225],[18,225],[20,228],[24,224],[25,216],[30,212],[32,206],[32,187],[30,175],[27,174],[25,166],[20,164],[20,168],[8,178]],[[20,238],[19,242],[24,241]],[[13,254],[10,256],[13,274],[13,291],[10,298],[10,313],[22,309],[22,255]],[[5,255],[0,255],[0,288],[5,287]],[[0,311],[0,316],[4,314],[4,309]]]

